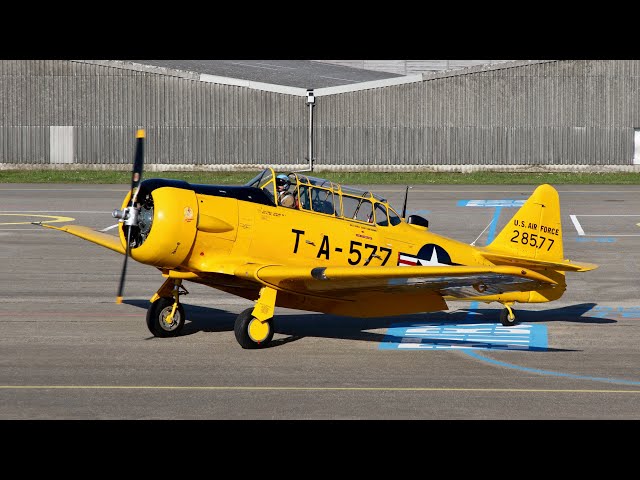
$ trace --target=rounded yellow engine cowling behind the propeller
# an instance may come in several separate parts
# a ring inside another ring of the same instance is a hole
[[[140,186],[137,225],[122,223],[118,229],[122,245],[127,244],[131,228],[131,257],[156,267],[180,265],[193,246],[198,223],[198,201],[191,189]],[[131,200],[129,193],[122,203],[124,210]]]

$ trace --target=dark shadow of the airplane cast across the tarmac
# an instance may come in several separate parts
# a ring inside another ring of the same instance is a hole
[[[125,303],[145,310],[149,307],[149,301],[147,300],[125,300]],[[183,303],[182,305],[187,317],[187,322],[182,331],[182,335],[192,335],[198,332],[233,331],[233,325],[237,317],[236,313],[187,303]],[[595,303],[582,303],[545,310],[516,310],[517,323],[615,323],[616,320],[605,318],[603,316],[586,315],[596,305],[597,304]],[[392,326],[410,327],[412,325],[434,323],[458,325],[476,323],[496,324],[499,323],[500,312],[500,308],[460,309],[453,312],[442,311],[375,318],[353,318],[320,313],[276,315],[274,318],[274,329],[275,333],[279,335],[274,338],[270,347],[280,346],[304,337],[335,338],[377,343],[400,343],[404,340],[404,337],[394,336],[387,333],[371,332],[369,330],[389,328]],[[602,314],[604,315],[604,312]],[[285,335],[286,337],[279,338],[280,335]],[[457,346],[458,348],[464,345],[482,346],[481,344],[486,344],[487,348],[500,348],[499,346],[492,345],[491,342],[478,342],[476,340],[466,342],[434,339],[430,343],[434,346],[448,345]],[[513,350],[514,348],[511,347],[509,349]],[[535,347],[531,347],[528,350],[543,350],[548,352],[557,349],[537,349]]]

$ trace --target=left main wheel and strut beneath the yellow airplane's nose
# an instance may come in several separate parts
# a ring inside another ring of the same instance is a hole
[[[180,295],[188,293],[181,279],[169,278],[151,298],[151,306],[147,310],[147,328],[154,337],[180,335],[186,320]]]

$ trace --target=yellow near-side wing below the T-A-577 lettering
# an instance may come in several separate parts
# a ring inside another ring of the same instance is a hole
[[[551,278],[523,267],[291,267],[247,264],[234,274],[281,290],[306,295],[348,298],[360,293],[430,291],[446,296],[499,294],[557,285]]]

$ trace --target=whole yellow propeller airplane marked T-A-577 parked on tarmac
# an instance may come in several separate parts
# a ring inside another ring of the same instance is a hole
[[[241,186],[142,181],[144,130],[139,130],[131,190],[119,235],[80,225],[60,230],[156,267],[164,283],[151,297],[146,322],[156,337],[174,337],[185,324],[183,282],[207,285],[255,301],[235,320],[242,348],[273,338],[275,307],[351,317],[447,310],[447,300],[499,302],[503,325],[513,305],[549,302],[565,291],[565,272],[597,267],[564,259],[560,201],[538,186],[497,237],[480,247],[405,218],[372,192],[266,168]],[[282,190],[285,190],[282,192]],[[291,206],[280,204],[284,194]],[[291,198],[289,199],[291,200]]]

